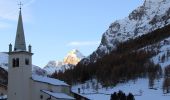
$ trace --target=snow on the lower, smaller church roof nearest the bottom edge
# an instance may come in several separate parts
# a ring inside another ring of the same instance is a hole
[[[75,98],[64,94],[64,93],[58,93],[58,92],[51,92],[51,91],[47,91],[47,90],[41,90],[42,92],[56,98],[56,99],[68,99],[68,100],[75,100]]]

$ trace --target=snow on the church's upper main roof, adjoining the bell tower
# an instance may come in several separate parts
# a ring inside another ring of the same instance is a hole
[[[32,75],[32,80],[38,81],[38,82],[43,82],[43,83],[48,83],[48,84],[52,84],[52,85],[65,85],[65,86],[69,86],[64,81],[61,81],[61,80],[58,80],[58,79],[54,79],[54,78],[49,78],[49,77],[46,77],[46,76]]]

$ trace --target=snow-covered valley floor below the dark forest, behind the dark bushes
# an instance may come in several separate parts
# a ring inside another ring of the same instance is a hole
[[[98,92],[95,89],[87,88],[88,82],[72,87],[72,91],[78,93],[78,88],[81,89],[81,95],[88,97],[91,100],[110,100],[110,95],[114,92],[122,90],[126,94],[132,93],[135,100],[170,100],[170,94],[163,94],[162,81],[155,80],[155,89],[149,89],[148,79],[138,79],[136,81],[129,81],[125,84],[119,84],[116,87],[101,88],[99,86]],[[84,91],[82,88],[85,88]]]

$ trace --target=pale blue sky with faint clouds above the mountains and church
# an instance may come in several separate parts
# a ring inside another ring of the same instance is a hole
[[[72,49],[88,56],[97,49],[102,34],[144,0],[20,0],[27,46],[33,64],[44,67],[62,61]],[[0,52],[14,45],[19,0],[0,0]]]

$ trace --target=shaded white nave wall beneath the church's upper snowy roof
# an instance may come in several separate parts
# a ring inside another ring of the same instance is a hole
[[[42,92],[43,90],[51,91],[53,93],[63,93],[71,97],[70,86],[68,85],[54,85],[45,82],[40,82],[33,79],[31,80],[31,84],[32,84],[31,100],[47,100],[47,98],[49,98],[51,95]],[[55,99],[51,98],[51,100],[58,100],[56,98]],[[60,100],[67,100],[67,98],[60,99]],[[68,100],[73,100],[73,99],[68,99]]]

